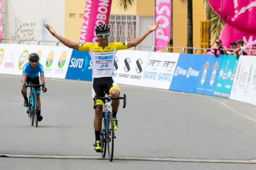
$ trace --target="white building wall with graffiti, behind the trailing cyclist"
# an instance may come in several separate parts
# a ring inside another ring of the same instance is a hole
[[[57,41],[43,27],[45,22],[52,25],[60,35],[64,36],[64,0],[3,1],[6,5],[6,14],[3,15],[5,24],[4,39]],[[35,43],[33,41],[24,42],[24,44]]]

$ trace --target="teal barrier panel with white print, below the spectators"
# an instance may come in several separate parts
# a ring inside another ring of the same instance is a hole
[[[223,57],[220,74],[218,74],[218,80],[213,95],[229,98],[235,79],[238,60],[234,55],[223,55]]]

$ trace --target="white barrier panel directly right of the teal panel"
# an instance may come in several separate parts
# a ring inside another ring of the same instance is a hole
[[[253,56],[244,55],[239,57],[230,99],[247,102],[250,89],[249,86],[251,85],[252,79],[252,70],[253,67],[255,68],[252,63],[253,58]]]

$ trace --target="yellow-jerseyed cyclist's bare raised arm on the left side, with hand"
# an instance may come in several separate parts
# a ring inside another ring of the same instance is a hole
[[[45,23],[45,28],[47,30],[49,30],[49,32],[56,37],[60,42],[62,42],[62,44],[64,44],[65,46],[69,47],[69,48],[73,48],[78,50],[79,49],[79,44],[76,42],[71,42],[69,39],[66,39],[62,36],[60,36],[59,34],[56,33],[55,29],[53,29],[49,24]]]

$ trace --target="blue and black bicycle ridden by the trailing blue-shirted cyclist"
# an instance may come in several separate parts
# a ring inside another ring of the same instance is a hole
[[[23,86],[23,91],[25,92],[26,87],[30,87],[31,92],[29,93],[29,99],[28,99],[28,107],[27,107],[27,113],[28,117],[30,118],[31,126],[35,125],[35,127],[38,127],[38,99],[36,96],[36,89],[35,87],[44,87],[44,85],[35,85],[32,83],[29,83],[29,85]]]

